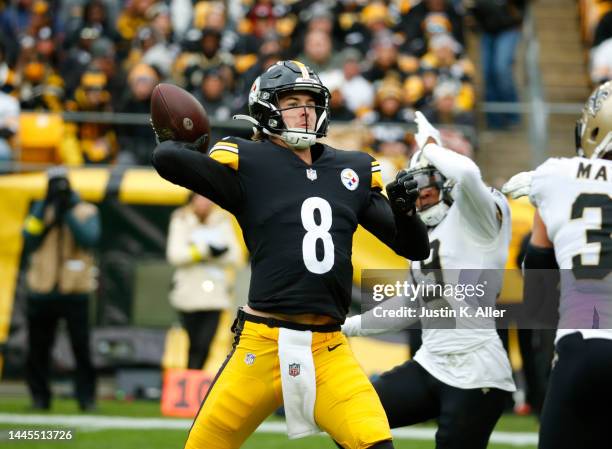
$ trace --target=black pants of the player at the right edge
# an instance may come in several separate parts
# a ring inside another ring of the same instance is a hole
[[[540,449],[610,447],[612,340],[576,332],[557,342],[540,417]]]

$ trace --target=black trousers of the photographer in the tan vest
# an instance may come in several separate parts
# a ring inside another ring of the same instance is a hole
[[[89,300],[87,295],[49,295],[28,300],[28,355],[26,380],[34,404],[48,408],[51,350],[57,325],[66,321],[76,362],[75,394],[81,408],[95,401],[95,370],[89,348]]]

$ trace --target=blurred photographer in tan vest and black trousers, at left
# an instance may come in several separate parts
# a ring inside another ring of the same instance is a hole
[[[29,256],[26,378],[32,407],[48,410],[51,349],[57,324],[66,320],[76,360],[75,393],[83,411],[95,408],[95,371],[89,348],[89,294],[95,288],[93,248],[100,237],[98,209],[70,188],[66,169],[47,172],[47,195],[26,218]]]

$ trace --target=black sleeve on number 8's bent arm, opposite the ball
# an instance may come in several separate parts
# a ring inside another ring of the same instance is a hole
[[[421,219],[394,215],[389,200],[380,192],[370,193],[369,204],[359,223],[400,256],[410,260],[429,257],[429,236]]]

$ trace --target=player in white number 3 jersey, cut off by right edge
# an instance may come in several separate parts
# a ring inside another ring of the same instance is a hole
[[[561,271],[555,358],[541,449],[609,447],[612,423],[612,82],[587,100],[577,157],[551,158],[503,187],[537,207],[524,267]],[[534,294],[535,293],[535,294]],[[525,291],[525,302],[542,294]]]

